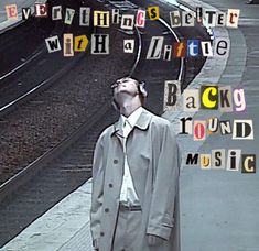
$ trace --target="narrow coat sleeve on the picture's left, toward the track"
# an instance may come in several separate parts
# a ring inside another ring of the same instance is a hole
[[[98,242],[100,238],[100,222],[104,201],[104,144],[102,137],[100,135],[96,143],[93,162],[90,231],[95,248],[98,248]]]

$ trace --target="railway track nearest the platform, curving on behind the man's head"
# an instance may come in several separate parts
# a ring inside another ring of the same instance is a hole
[[[157,25],[161,32],[166,30],[170,37],[177,41],[177,35],[166,21],[160,19]],[[132,76],[138,75],[139,67],[145,67],[141,62],[144,58],[141,55],[144,53],[142,46],[145,35],[141,35],[138,30],[136,32],[139,50],[136,62],[128,72]],[[184,62],[181,62],[177,64],[175,78],[182,80]],[[168,70],[172,72],[172,68]],[[161,74],[158,69],[157,74],[159,73]],[[154,96],[163,96],[155,88],[153,90]],[[151,97],[148,108],[155,106],[158,102]],[[102,106],[66,140],[0,185],[0,247],[90,177],[96,140],[101,130],[117,117],[109,105]]]

